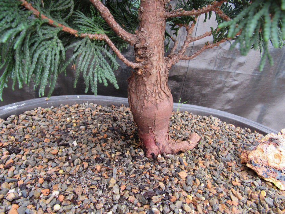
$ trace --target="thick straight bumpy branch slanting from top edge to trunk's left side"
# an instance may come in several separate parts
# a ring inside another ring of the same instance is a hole
[[[111,29],[124,41],[135,45],[138,42],[136,35],[125,31],[114,19],[109,9],[100,0],[90,0],[92,5],[99,11],[100,16],[107,22]]]

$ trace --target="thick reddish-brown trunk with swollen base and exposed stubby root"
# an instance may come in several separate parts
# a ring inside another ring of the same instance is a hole
[[[197,134],[182,142],[169,138],[169,121],[173,99],[167,86],[168,70],[164,57],[165,1],[141,1],[137,35],[140,42],[135,46],[137,61],[145,63],[128,79],[128,99],[145,154],[176,153],[195,147]]]

